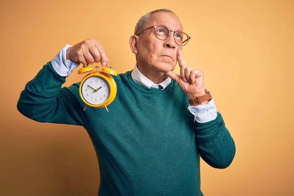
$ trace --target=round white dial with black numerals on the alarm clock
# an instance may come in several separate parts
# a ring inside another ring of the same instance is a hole
[[[99,105],[107,100],[110,89],[105,79],[98,76],[92,76],[84,81],[81,93],[88,103]]]

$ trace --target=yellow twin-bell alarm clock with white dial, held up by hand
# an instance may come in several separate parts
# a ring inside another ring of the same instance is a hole
[[[104,107],[108,112],[106,106],[115,99],[117,85],[110,74],[118,75],[118,73],[112,67],[109,68],[107,63],[106,66],[102,71],[98,71],[98,66],[96,66],[96,71],[93,71],[93,68],[88,65],[78,70],[78,74],[90,72],[82,79],[79,86],[80,97],[86,103],[83,111],[89,105],[94,108]]]

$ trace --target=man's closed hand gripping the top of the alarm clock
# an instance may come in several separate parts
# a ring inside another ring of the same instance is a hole
[[[83,65],[92,65],[100,61],[103,66],[108,62],[103,47],[94,38],[84,40],[69,48],[66,51],[66,60],[82,63]]]

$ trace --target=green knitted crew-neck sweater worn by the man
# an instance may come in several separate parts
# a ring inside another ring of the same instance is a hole
[[[222,169],[235,155],[221,114],[208,123],[194,122],[176,82],[162,91],[140,86],[131,71],[113,77],[118,92],[109,113],[90,106],[83,112],[80,82],[61,88],[66,77],[49,62],[25,85],[17,108],[37,122],[87,130],[98,157],[99,196],[203,196],[200,156]]]

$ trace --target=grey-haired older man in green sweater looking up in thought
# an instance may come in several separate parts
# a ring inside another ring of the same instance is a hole
[[[109,113],[83,111],[80,83],[61,88],[80,63],[105,65],[104,49],[95,39],[67,45],[25,85],[18,110],[38,122],[87,130],[98,157],[99,196],[202,196],[199,157],[226,168],[235,144],[202,71],[184,62],[189,39],[172,11],[143,16],[130,37],[136,66],[113,75],[118,91]],[[180,75],[172,72],[177,61]]]

